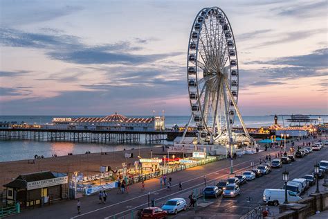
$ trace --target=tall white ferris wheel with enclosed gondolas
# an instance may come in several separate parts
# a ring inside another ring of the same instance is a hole
[[[199,143],[214,143],[224,134],[231,139],[236,115],[249,136],[237,107],[239,68],[235,37],[228,17],[218,7],[203,8],[194,19],[187,76],[190,121],[197,124]]]

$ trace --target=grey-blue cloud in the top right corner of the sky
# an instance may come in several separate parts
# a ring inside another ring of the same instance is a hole
[[[319,12],[323,10],[323,14]],[[288,17],[315,17],[315,16],[326,16],[325,11],[327,10],[327,1],[319,1],[316,3],[297,3],[292,6],[283,6],[278,8],[273,8],[277,15],[288,16]]]

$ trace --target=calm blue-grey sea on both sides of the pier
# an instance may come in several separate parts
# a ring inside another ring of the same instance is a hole
[[[267,116],[243,116],[244,123],[248,128],[259,128],[263,126],[270,126],[274,123],[275,115]],[[37,123],[46,124],[51,123],[54,117],[61,118],[78,118],[78,117],[102,117],[102,116],[0,116],[0,122],[15,121],[17,123]],[[127,117],[149,117],[149,116],[127,116]],[[311,119],[318,119],[318,115],[309,116]],[[289,115],[278,116],[278,123],[288,126],[290,125],[286,119]],[[321,123],[328,121],[328,115],[320,115]],[[165,127],[172,128],[174,125],[184,126],[188,123],[190,116],[165,116]],[[238,119],[235,120],[234,126],[241,127]],[[159,144],[145,145],[145,144],[113,144],[113,143],[76,143],[76,142],[50,142],[50,141],[29,141],[29,140],[12,140],[0,141],[0,162],[16,161],[21,159],[33,159],[35,155],[43,155],[44,157],[51,157],[52,155],[64,156],[70,152],[73,154],[84,154],[87,150],[90,152],[112,152],[118,150],[129,150],[132,148],[152,148],[161,146]]]

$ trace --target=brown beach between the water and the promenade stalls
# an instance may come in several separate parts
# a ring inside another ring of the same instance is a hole
[[[107,155],[98,153],[82,154],[82,155],[66,155],[60,157],[47,157],[44,159],[36,159],[35,164],[28,164],[28,161],[33,159],[20,161],[6,161],[0,162],[0,186],[1,190],[5,189],[3,184],[6,184],[12,179],[15,179],[21,174],[35,173],[39,171],[51,170],[59,173],[69,173],[69,177],[73,175],[74,171],[84,173],[84,175],[91,175],[100,173],[100,166],[111,166],[111,168],[120,169],[122,163],[127,165],[134,165],[134,161],[140,157],[150,158],[151,150],[153,157],[162,158],[166,155],[161,147],[154,148],[134,148],[132,150],[121,150],[116,152],[106,152]],[[134,157],[125,158],[125,153],[133,153]]]

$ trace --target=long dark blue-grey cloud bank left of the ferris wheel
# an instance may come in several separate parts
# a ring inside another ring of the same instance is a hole
[[[136,55],[128,51],[138,51],[139,46],[130,42],[88,46],[72,35],[48,35],[42,33],[25,33],[10,28],[0,28],[0,44],[3,46],[46,49],[46,55],[54,60],[75,64],[145,64],[155,62],[182,53],[162,53]],[[142,41],[137,39],[137,41]],[[147,42],[147,40],[145,40]],[[145,43],[144,42],[144,43]]]

